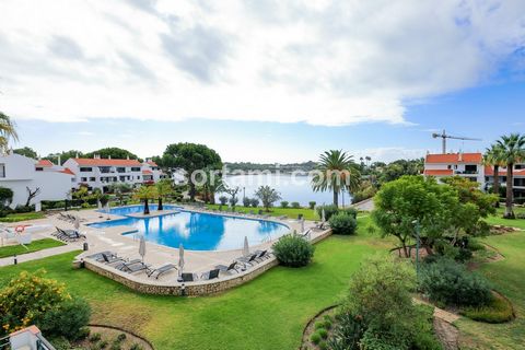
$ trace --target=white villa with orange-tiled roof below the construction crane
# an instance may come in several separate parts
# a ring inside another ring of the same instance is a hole
[[[424,176],[438,179],[448,176],[462,176],[481,185],[487,189],[494,183],[494,168],[483,164],[482,153],[446,153],[427,154],[424,159]],[[514,165],[514,197],[525,197],[525,163]],[[506,182],[506,168],[499,170],[500,183]]]

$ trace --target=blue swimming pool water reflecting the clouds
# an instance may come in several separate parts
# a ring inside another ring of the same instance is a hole
[[[156,210],[156,206],[150,206]],[[166,209],[177,207],[165,206]],[[120,215],[142,212],[142,206],[112,208],[109,212]],[[228,215],[179,211],[158,218],[138,219],[126,217],[120,220],[93,223],[90,226],[104,229],[116,225],[132,226],[143,234],[147,241],[191,250],[228,250],[243,247],[244,236],[250,246],[270,238],[275,240],[288,233],[290,229],[283,224]]]

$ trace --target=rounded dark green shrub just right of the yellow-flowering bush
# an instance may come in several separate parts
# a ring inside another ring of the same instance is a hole
[[[90,316],[91,307],[88,302],[73,298],[48,311],[38,327],[46,335],[77,340],[85,336],[82,327],[88,325]]]

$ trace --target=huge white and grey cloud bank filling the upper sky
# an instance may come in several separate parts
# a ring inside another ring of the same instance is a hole
[[[405,122],[524,46],[525,2],[4,0],[0,107],[131,117]]]

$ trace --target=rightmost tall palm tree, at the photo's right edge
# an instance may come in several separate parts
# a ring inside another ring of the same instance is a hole
[[[514,211],[512,209],[513,167],[517,162],[525,160],[525,135],[511,133],[510,136],[502,136],[497,144],[502,148],[502,161],[506,165],[506,200],[505,214],[503,218],[514,219]]]

